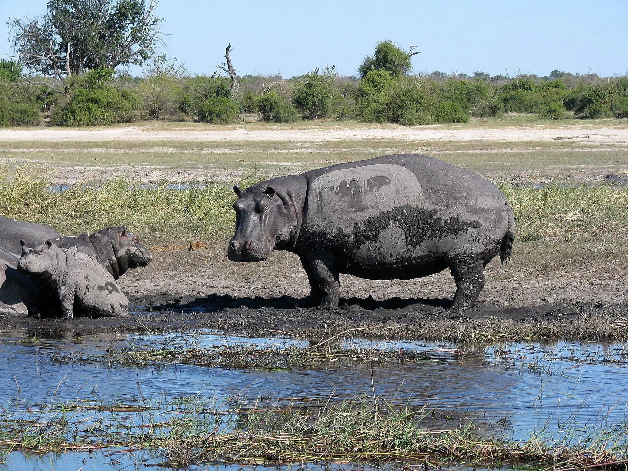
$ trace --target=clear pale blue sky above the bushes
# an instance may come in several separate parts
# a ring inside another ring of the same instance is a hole
[[[6,18],[45,5],[0,0],[0,57],[11,54]],[[161,0],[158,14],[166,53],[193,73],[214,72],[231,43],[240,75],[355,75],[382,40],[416,45],[416,72],[628,72],[628,0]]]

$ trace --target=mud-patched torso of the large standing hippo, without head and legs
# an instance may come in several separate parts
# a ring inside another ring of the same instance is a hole
[[[363,278],[404,278],[400,268],[409,264],[436,273],[452,257],[487,247],[492,257],[508,224],[506,199],[492,183],[423,155],[382,156],[303,176],[300,241],[333,252],[338,268]]]

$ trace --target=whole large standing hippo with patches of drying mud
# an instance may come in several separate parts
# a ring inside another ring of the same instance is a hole
[[[339,273],[412,279],[452,271],[452,309],[472,306],[484,267],[509,259],[514,215],[489,181],[440,160],[397,154],[342,163],[252,185],[234,203],[232,261],[295,252],[310,302],[336,307]]]

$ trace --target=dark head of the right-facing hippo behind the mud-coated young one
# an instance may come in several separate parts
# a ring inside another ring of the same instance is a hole
[[[146,266],[153,259],[151,252],[139,242],[139,237],[124,225],[99,230],[89,236],[89,239],[99,252],[99,256],[110,254],[107,259],[111,266],[111,273],[116,279],[128,269]]]

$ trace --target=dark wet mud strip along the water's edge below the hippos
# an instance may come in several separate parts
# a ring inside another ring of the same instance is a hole
[[[133,300],[141,304],[141,298]],[[154,301],[154,300],[153,300]],[[336,310],[306,308],[305,300],[208,295],[135,310],[127,318],[38,320],[0,318],[0,329],[23,327],[37,335],[63,338],[77,332],[168,332],[209,328],[251,337],[269,333],[306,336],[350,331],[372,338],[481,342],[485,340],[623,340],[628,338],[628,306],[602,303],[539,306],[485,306],[463,315],[448,311],[448,299],[368,298],[341,300]],[[47,333],[45,333],[47,332]]]

